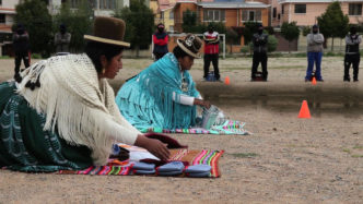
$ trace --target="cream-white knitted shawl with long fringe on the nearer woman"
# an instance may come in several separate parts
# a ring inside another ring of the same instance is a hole
[[[117,134],[105,125],[110,119],[125,127],[115,94],[97,72],[86,55],[68,55],[39,61],[24,72],[19,94],[39,113],[46,115],[44,129],[55,131],[73,145],[86,145],[95,165],[105,165]],[[39,80],[33,91],[26,84]],[[130,124],[126,125],[132,129]],[[125,139],[132,143],[136,139]]]

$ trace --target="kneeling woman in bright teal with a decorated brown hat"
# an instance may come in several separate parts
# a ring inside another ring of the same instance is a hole
[[[116,96],[121,115],[139,130],[190,128],[196,123],[195,105],[210,107],[188,72],[199,57],[201,39],[187,35],[177,44],[173,53],[127,81]]]

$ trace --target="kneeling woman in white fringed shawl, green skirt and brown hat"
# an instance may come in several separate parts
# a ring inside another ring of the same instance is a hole
[[[106,79],[122,69],[125,23],[96,17],[85,53],[52,57],[0,84],[0,167],[22,171],[106,165],[113,143],[167,159],[166,145],[141,134],[115,104]]]

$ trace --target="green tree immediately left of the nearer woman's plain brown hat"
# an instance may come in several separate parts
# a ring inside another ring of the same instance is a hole
[[[71,10],[68,2],[62,3],[60,12],[54,17],[54,33],[59,31],[61,23],[72,34],[70,49],[74,52],[82,51],[85,45],[83,36],[92,32],[93,25],[93,11],[87,0],[81,0],[77,10]]]

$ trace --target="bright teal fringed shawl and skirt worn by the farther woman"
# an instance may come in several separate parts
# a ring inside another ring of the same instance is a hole
[[[183,80],[187,88],[182,91]],[[196,106],[173,100],[173,92],[198,97],[196,84],[188,71],[183,79],[177,59],[165,55],[119,89],[116,104],[121,115],[137,129],[163,128],[168,130],[190,128],[195,124]]]

